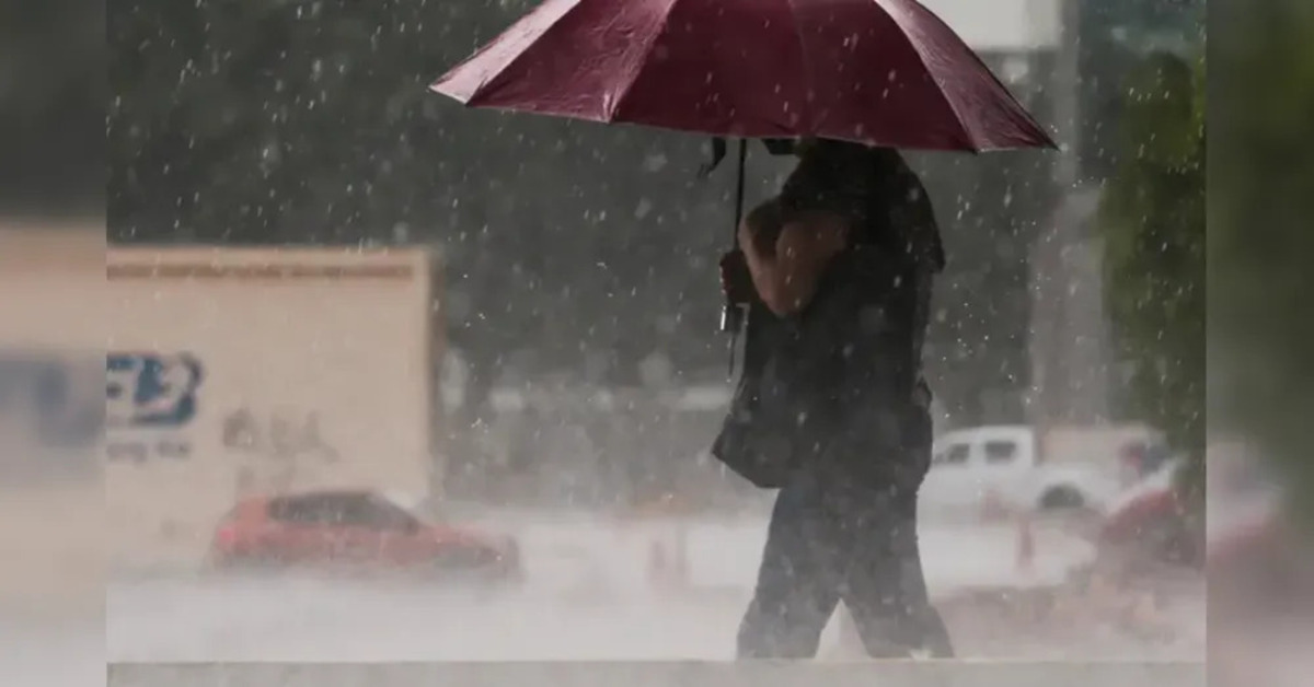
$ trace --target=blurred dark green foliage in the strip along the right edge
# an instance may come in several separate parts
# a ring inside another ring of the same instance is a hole
[[[1230,28],[1210,127],[1210,374],[1217,424],[1257,440],[1314,515],[1314,4],[1217,3]]]

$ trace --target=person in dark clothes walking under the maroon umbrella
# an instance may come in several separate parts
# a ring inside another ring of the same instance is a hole
[[[749,307],[744,373],[712,453],[779,489],[740,658],[811,658],[842,600],[872,657],[953,655],[917,546],[930,464],[921,347],[943,268],[897,151],[803,141],[781,194],[721,260]]]

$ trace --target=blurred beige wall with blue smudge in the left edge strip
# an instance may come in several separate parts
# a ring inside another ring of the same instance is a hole
[[[96,221],[0,222],[0,617],[104,603],[108,318]],[[99,611],[97,611],[99,612]]]

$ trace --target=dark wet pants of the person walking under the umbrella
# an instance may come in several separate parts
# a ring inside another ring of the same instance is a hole
[[[841,600],[870,655],[951,657],[949,632],[926,595],[916,525],[916,493],[817,477],[787,485],[771,512],[738,657],[815,657]]]

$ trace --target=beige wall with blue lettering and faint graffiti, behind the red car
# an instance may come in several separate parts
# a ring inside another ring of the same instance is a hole
[[[109,384],[167,388],[106,405],[117,564],[198,560],[240,494],[427,493],[427,252],[116,248],[105,275]]]

